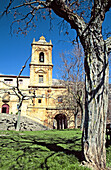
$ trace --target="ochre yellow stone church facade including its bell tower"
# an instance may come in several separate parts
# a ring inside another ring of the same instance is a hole
[[[43,36],[39,41],[32,42],[32,57],[30,63],[30,77],[19,77],[19,88],[27,96],[24,100],[21,115],[29,117],[49,128],[72,128],[74,126],[73,114],[59,109],[58,103],[66,88],[58,80],[52,79],[52,48]],[[0,75],[0,112],[16,114],[18,112],[18,97],[13,91],[17,85],[17,76]]]

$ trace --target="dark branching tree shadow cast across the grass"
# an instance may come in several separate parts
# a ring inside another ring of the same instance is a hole
[[[24,163],[21,162],[22,158],[24,159],[27,157],[27,155],[32,155],[34,154],[35,158],[40,158],[42,155],[38,155],[36,152],[47,152],[44,161],[40,162],[40,168],[46,168],[47,170],[49,169],[48,167],[48,159],[53,157],[56,153],[61,154],[64,153],[66,155],[74,155],[79,162],[81,162],[82,159],[82,152],[80,150],[81,148],[81,138],[80,137],[73,137],[72,139],[67,139],[67,138],[62,138],[62,137],[55,137],[55,136],[47,136],[45,139],[42,137],[37,137],[37,136],[25,136],[25,135],[19,135],[19,134],[14,134],[13,135],[7,135],[7,136],[1,136],[0,137],[2,142],[0,144],[1,147],[6,147],[9,148],[13,146],[15,148],[15,151],[21,151],[21,153],[14,158],[16,160],[16,163],[20,168],[24,168]],[[60,146],[61,145],[61,146]],[[62,146],[63,145],[63,146]],[[64,148],[64,145],[66,148]],[[33,146],[36,146],[33,148]],[[77,150],[77,146],[79,150]],[[45,148],[46,147],[46,150]],[[76,150],[74,149],[76,148]],[[48,150],[49,151],[48,151]],[[30,162],[31,158],[28,158],[28,162]],[[13,165],[14,166],[14,165]],[[14,168],[14,167],[11,168]]]

